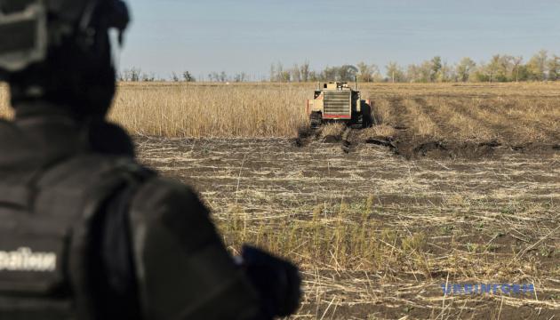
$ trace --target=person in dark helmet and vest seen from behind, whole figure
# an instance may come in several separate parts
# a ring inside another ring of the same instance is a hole
[[[270,319],[298,308],[290,262],[234,262],[196,193],[136,162],[105,120],[119,0],[0,0],[0,318]]]

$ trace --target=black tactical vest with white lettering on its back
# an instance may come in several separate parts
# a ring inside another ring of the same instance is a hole
[[[0,319],[94,319],[92,223],[147,171],[132,159],[74,156],[0,180]]]

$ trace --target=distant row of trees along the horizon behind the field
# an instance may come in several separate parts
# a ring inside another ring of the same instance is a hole
[[[140,68],[124,69],[118,75],[120,81],[173,81],[196,82],[195,76],[189,71],[180,75],[172,73],[167,79],[156,78],[154,73],[142,72]],[[496,54],[488,61],[476,62],[463,58],[457,63],[448,63],[436,56],[419,64],[403,66],[397,62],[389,62],[384,68],[375,64],[359,62],[356,65],[326,67],[323,70],[312,70],[309,61],[284,67],[280,62],[270,66],[268,78],[260,80],[270,82],[318,82],[318,81],[354,81],[360,82],[392,82],[392,83],[446,83],[446,82],[522,82],[522,81],[557,81],[560,80],[560,56],[549,54],[545,50],[534,54],[531,59],[524,60],[521,56]],[[226,72],[211,72],[206,77],[199,76],[201,81],[209,82],[247,82],[254,81],[254,76],[244,72],[233,76]]]

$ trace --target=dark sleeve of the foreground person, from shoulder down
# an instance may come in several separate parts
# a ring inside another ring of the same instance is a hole
[[[130,211],[140,304],[148,319],[256,319],[257,292],[188,187],[149,181]]]

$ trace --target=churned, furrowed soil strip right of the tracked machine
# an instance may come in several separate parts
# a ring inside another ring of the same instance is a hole
[[[378,124],[392,131],[364,132],[365,140],[390,141],[409,159],[553,156],[560,150],[556,94],[388,95],[372,105]]]

